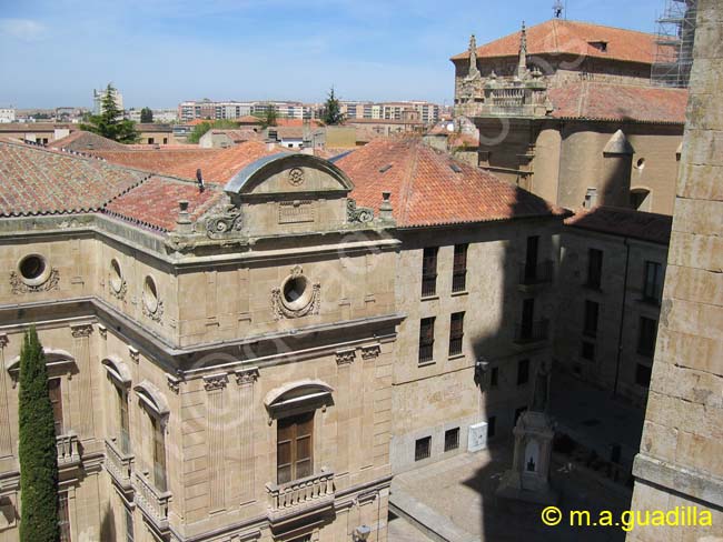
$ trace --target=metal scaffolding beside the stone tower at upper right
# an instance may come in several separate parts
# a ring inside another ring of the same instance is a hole
[[[658,87],[686,88],[693,67],[697,0],[666,0],[657,19],[651,81]]]

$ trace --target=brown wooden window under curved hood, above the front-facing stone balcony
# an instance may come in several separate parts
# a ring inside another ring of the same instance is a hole
[[[314,412],[278,421],[276,483],[287,483],[313,474],[313,436]]]

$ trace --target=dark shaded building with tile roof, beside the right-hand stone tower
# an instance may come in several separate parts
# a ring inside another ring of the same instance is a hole
[[[612,395],[644,406],[660,319],[671,218],[597,207],[562,233],[554,358]]]

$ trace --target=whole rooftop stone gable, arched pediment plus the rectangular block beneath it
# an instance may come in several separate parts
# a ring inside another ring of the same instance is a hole
[[[225,187],[248,237],[340,230],[349,223],[354,184],[336,165],[309,154],[279,153],[239,171]]]

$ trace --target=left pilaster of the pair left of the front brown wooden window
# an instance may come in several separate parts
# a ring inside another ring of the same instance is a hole
[[[226,416],[224,410],[224,390],[228,383],[226,373],[204,377],[204,388],[207,391],[206,416],[208,421],[208,503],[209,512],[224,509],[224,433]]]

